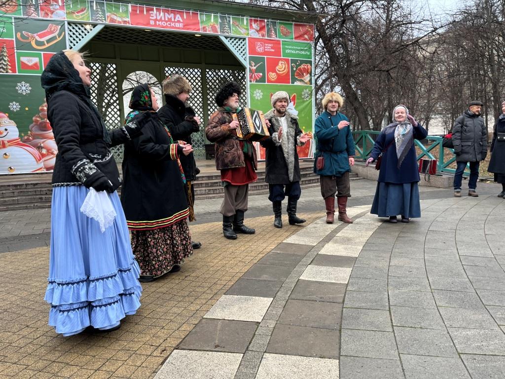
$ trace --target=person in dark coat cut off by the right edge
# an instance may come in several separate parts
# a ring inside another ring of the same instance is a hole
[[[505,196],[505,102],[501,103],[501,115],[494,124],[491,142],[491,159],[487,171],[494,174],[494,181],[501,183],[499,198]]]

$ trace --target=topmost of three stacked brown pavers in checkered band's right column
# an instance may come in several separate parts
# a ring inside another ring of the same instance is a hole
[[[290,299],[341,303],[345,294],[345,283],[329,283],[314,280],[298,280]]]

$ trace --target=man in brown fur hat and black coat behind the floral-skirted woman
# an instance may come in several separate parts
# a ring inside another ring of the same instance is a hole
[[[181,140],[191,145],[191,134],[200,130],[200,118],[195,115],[193,109],[187,105],[191,84],[181,75],[167,77],[163,83],[165,105],[158,111],[163,123],[168,127],[174,141]],[[186,198],[189,206],[189,221],[194,221],[194,188],[193,181],[199,170],[196,168],[193,153],[180,156],[180,162],[184,176],[186,177]],[[201,247],[201,243],[192,242],[193,249]]]

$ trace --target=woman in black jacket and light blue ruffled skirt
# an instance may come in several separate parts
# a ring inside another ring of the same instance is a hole
[[[90,99],[90,73],[82,55],[67,50],[49,60],[41,77],[58,145],[45,300],[51,304],[49,325],[64,336],[90,325],[116,329],[125,315],[136,312],[142,292],[110,150],[138,135],[141,120],[109,132]],[[116,213],[103,231],[80,211],[88,194],[93,195],[91,188],[99,196],[106,191]]]

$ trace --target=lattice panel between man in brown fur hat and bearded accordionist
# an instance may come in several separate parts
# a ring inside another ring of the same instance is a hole
[[[192,144],[194,148],[194,156],[198,159],[205,159],[205,125],[206,120],[204,117],[204,103],[202,97],[201,85],[201,69],[189,67],[165,67],[165,76],[179,74],[184,76],[191,84],[192,91],[188,100],[191,108],[202,120],[200,131],[191,134]]]

